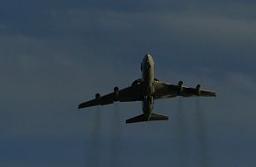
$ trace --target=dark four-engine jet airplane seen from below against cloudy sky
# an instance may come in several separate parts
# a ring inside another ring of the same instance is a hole
[[[142,77],[132,82],[132,85],[119,90],[114,88],[114,92],[101,96],[95,94],[95,98],[81,103],[79,109],[94,105],[109,105],[116,101],[131,102],[141,101],[143,113],[132,119],[126,120],[126,123],[135,123],[151,120],[169,120],[168,116],[153,113],[154,100],[161,98],[182,97],[216,97],[214,91],[200,90],[200,84],[196,88],[183,86],[183,81],[175,84],[165,84],[154,78],[154,60],[150,54],[146,54],[140,64]]]

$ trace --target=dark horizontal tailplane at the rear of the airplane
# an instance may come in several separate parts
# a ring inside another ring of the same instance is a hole
[[[135,123],[135,122],[143,122],[143,121],[151,121],[151,120],[169,120],[168,116],[159,115],[156,113],[151,113],[149,120],[146,119],[144,114],[133,117],[132,119],[126,120],[126,123]]]

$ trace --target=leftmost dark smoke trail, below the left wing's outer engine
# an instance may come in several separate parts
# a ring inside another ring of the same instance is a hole
[[[91,146],[89,149],[89,156],[88,156],[88,165],[87,166],[100,166],[99,160],[100,160],[100,128],[101,128],[101,112],[100,112],[100,106],[97,106],[96,112],[95,112],[95,118],[92,128],[92,135],[91,135]]]

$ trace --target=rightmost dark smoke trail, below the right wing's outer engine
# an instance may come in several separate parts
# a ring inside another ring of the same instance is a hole
[[[207,123],[203,116],[202,107],[200,105],[200,98],[196,98],[196,118],[198,126],[198,139],[200,142],[200,166],[210,167],[208,162],[208,143],[207,143]]]

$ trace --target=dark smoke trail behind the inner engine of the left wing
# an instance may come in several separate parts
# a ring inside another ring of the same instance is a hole
[[[113,111],[113,122],[112,122],[112,139],[110,144],[110,156],[109,156],[109,166],[120,166],[118,165],[120,156],[120,147],[121,147],[121,123],[120,123],[120,109],[119,104],[114,104]]]

